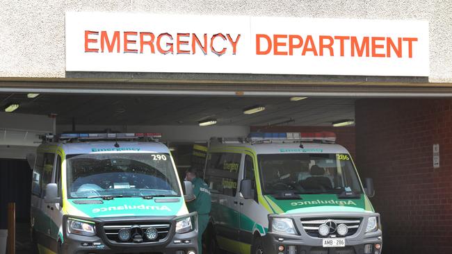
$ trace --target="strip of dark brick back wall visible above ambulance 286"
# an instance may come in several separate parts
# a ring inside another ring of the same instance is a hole
[[[330,131],[336,133],[337,144],[344,146],[355,158],[355,127],[330,127],[330,126],[274,126],[271,128],[251,126],[250,131],[261,130],[262,132],[300,132],[314,133],[319,131]]]

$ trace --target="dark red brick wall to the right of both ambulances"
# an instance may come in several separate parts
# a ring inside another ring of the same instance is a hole
[[[374,179],[384,253],[452,253],[452,100],[363,99],[355,106],[357,166],[362,178]]]

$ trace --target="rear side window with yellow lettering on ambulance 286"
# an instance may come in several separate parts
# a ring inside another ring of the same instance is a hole
[[[209,153],[205,181],[211,192],[235,196],[241,153]]]

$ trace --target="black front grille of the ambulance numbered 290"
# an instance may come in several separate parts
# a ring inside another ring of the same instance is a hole
[[[118,244],[122,243],[132,243],[134,242],[133,239],[129,239],[129,241],[122,242],[120,241],[118,237],[118,233],[121,229],[134,229],[134,228],[140,228],[138,230],[140,232],[141,237],[143,237],[143,243],[145,242],[163,242],[166,240],[168,234],[170,233],[170,227],[171,224],[169,222],[150,222],[150,221],[140,221],[140,222],[134,222],[134,221],[127,221],[127,222],[115,222],[115,223],[106,223],[104,225],[104,232],[106,237],[111,241]],[[157,232],[159,232],[158,237],[154,239],[153,241],[150,241],[145,237],[144,232],[148,228],[155,228]],[[134,230],[136,233],[137,230]]]

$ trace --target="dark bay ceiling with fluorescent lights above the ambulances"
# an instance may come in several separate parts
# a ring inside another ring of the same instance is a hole
[[[285,97],[136,96],[98,94],[1,94],[0,108],[19,103],[14,113],[57,114],[57,124],[81,125],[195,125],[215,118],[223,126],[264,126],[293,119],[293,126],[330,126],[355,118],[355,99]],[[244,115],[243,109],[264,105],[266,110]]]

